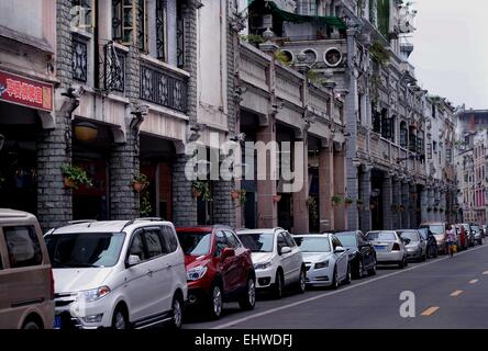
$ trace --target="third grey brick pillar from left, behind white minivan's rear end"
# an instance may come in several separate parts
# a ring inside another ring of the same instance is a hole
[[[197,200],[192,195],[191,181],[185,174],[185,167],[190,159],[185,154],[177,154],[173,165],[173,222],[175,226],[197,225]]]

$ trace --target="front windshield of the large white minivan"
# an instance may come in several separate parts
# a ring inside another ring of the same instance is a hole
[[[119,261],[124,233],[70,233],[47,235],[53,268],[113,267]]]

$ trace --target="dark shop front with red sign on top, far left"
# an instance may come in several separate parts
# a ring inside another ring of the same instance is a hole
[[[0,71],[0,207],[37,214],[36,145],[52,111],[52,84]]]

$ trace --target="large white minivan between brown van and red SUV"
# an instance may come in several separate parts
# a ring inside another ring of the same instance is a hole
[[[55,280],[55,328],[179,328],[185,257],[160,219],[79,222],[45,235]]]

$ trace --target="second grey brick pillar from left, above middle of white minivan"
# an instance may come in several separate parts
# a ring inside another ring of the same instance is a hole
[[[141,194],[132,189],[132,180],[138,170],[138,135],[127,127],[126,141],[114,144],[109,160],[111,219],[133,219],[141,216]]]

